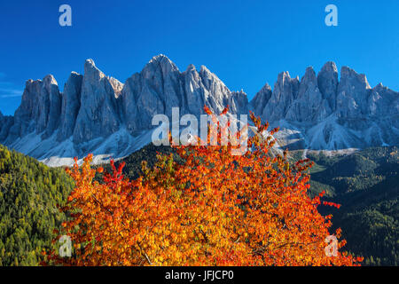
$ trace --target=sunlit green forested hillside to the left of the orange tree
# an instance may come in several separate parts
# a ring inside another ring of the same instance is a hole
[[[24,154],[0,146],[0,265],[37,265],[65,219],[72,179]]]

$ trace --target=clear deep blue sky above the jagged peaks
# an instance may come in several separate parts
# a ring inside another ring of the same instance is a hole
[[[69,4],[73,26],[59,26]],[[325,26],[325,6],[338,27]],[[399,1],[13,0],[0,3],[0,110],[13,114],[27,79],[52,74],[63,89],[92,58],[124,82],[163,53],[181,71],[207,66],[249,99],[281,71],[318,72],[327,60],[399,91]]]

